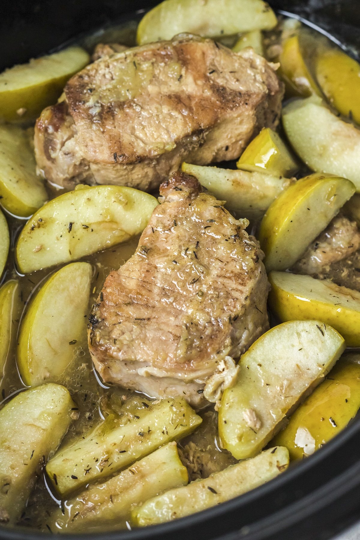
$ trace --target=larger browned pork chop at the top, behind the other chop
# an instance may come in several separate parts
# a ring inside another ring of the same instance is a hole
[[[37,120],[38,171],[65,187],[151,190],[181,162],[239,157],[279,121],[282,83],[252,49],[180,35],[99,58]]]

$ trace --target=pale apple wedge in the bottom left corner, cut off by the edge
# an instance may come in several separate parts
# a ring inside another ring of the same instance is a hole
[[[43,384],[17,394],[0,410],[0,518],[15,523],[37,473],[60,444],[74,403],[59,384]]]

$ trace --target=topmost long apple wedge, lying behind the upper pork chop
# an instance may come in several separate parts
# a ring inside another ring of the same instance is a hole
[[[165,0],[142,17],[137,43],[171,39],[182,32],[212,38],[232,36],[270,30],[276,23],[274,11],[262,0]]]

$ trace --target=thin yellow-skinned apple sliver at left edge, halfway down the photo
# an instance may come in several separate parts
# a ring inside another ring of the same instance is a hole
[[[6,359],[15,345],[22,309],[19,289],[19,282],[15,279],[6,281],[0,287],[0,381]]]

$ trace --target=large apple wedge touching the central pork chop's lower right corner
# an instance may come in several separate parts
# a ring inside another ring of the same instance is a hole
[[[241,356],[237,382],[223,393],[222,446],[237,460],[258,454],[344,349],[341,335],[318,320],[268,330]]]

